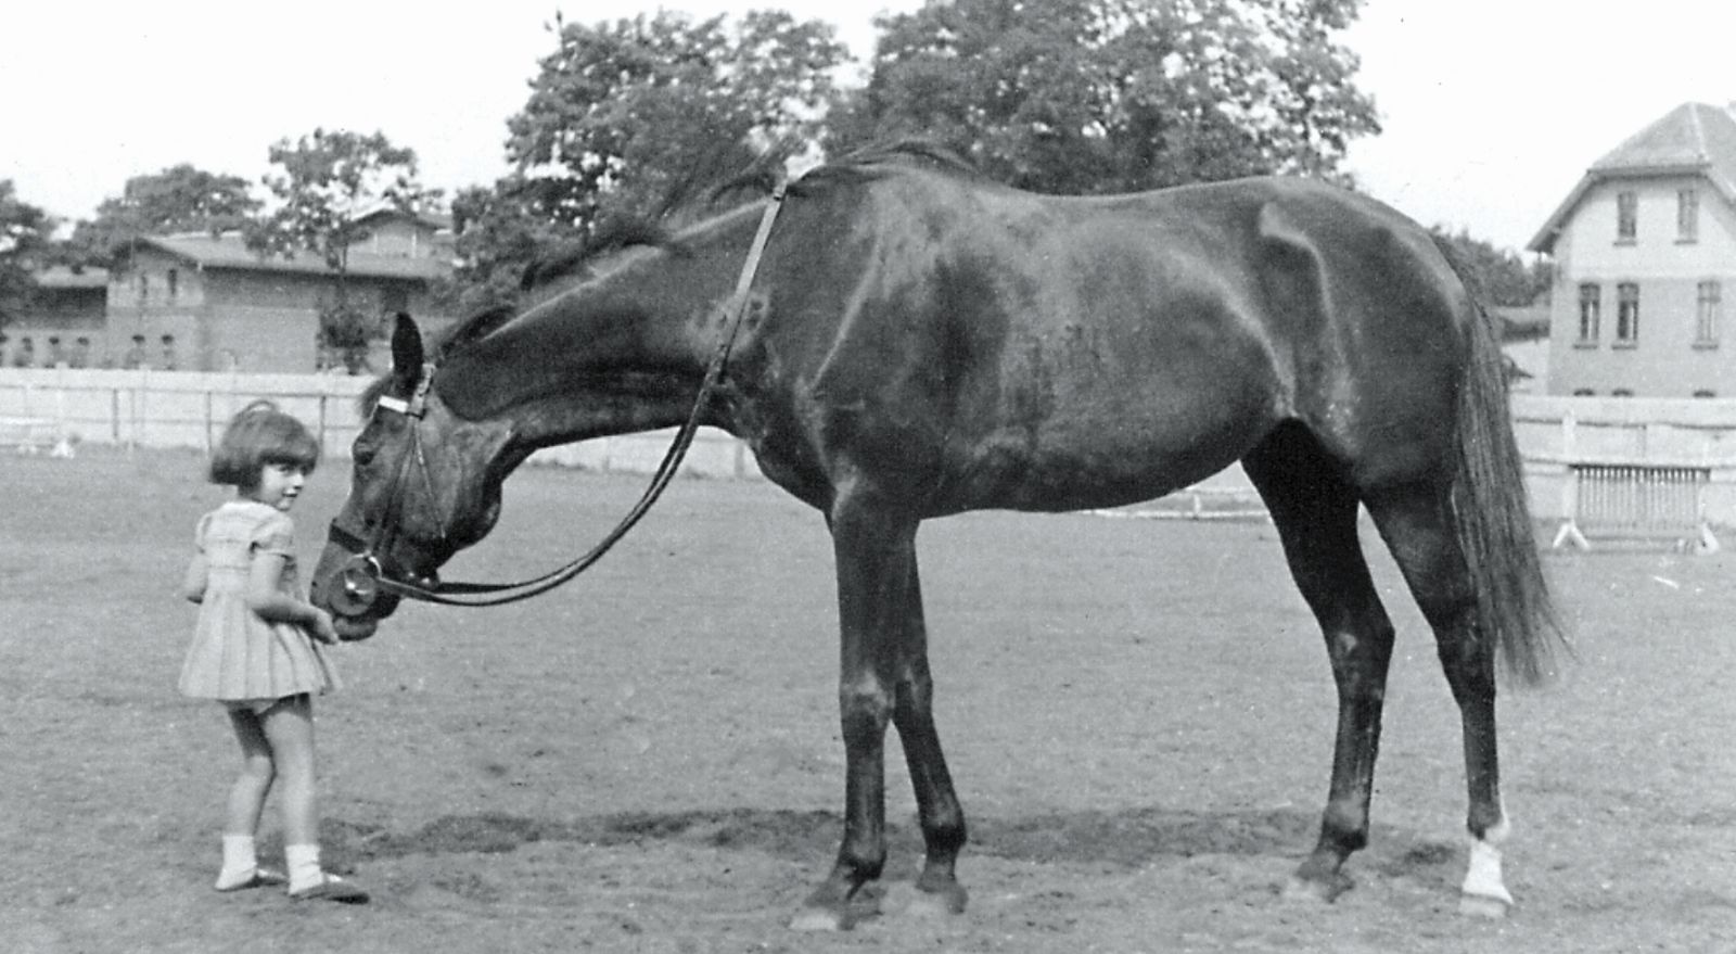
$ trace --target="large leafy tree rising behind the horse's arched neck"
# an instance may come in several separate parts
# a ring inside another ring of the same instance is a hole
[[[665,215],[781,142],[816,144],[845,59],[832,26],[755,10],[740,23],[674,12],[595,26],[556,21],[524,109],[516,172],[453,202],[469,304],[510,295],[538,250],[615,214]]]

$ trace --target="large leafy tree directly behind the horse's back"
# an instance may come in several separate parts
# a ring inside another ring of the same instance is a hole
[[[930,0],[878,17],[868,87],[828,151],[939,139],[1047,193],[1333,176],[1378,132],[1335,35],[1361,0]]]

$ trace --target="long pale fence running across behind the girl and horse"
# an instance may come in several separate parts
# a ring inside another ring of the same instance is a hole
[[[312,427],[325,452],[347,457],[361,426],[356,396],[366,379],[149,370],[0,368],[0,419],[49,422],[82,443],[207,450],[224,422],[271,398]],[[1705,471],[1700,504],[1717,525],[1736,525],[1736,400],[1549,398],[1516,394],[1514,429],[1526,457],[1536,516],[1575,516],[1575,466],[1656,466]],[[651,471],[670,433],[557,447],[533,462],[597,471]],[[757,478],[740,441],[701,429],[682,473]],[[1252,488],[1231,471],[1213,488]]]

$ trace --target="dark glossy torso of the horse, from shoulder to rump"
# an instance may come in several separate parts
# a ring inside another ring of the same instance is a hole
[[[941,174],[865,193],[875,252],[807,400],[823,443],[894,460],[936,511],[1149,499],[1286,419],[1358,457],[1450,417],[1455,280],[1361,196],[1241,179],[1057,198]]]

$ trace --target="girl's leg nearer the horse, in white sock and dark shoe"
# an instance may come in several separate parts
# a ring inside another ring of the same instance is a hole
[[[290,867],[290,897],[366,902],[361,888],[319,867],[319,812],[314,801],[314,707],[309,695],[278,700],[264,716],[266,739],[276,756],[283,785],[283,855]]]

